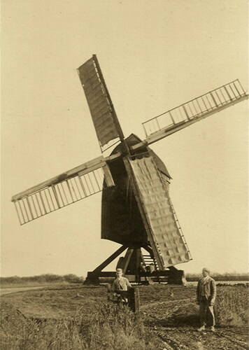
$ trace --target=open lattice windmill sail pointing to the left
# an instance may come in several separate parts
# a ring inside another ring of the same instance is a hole
[[[96,158],[13,196],[20,225],[115,186],[106,163],[115,158]]]

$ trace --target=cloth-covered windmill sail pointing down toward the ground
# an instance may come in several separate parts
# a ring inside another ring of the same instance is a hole
[[[151,157],[131,160],[138,193],[164,267],[191,260],[162,175]]]

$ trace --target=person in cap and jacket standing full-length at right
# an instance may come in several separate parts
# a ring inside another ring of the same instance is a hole
[[[197,285],[197,304],[199,304],[199,315],[201,327],[198,331],[205,330],[208,321],[208,315],[211,316],[211,331],[215,331],[215,314],[213,305],[215,304],[216,286],[215,280],[209,276],[210,270],[204,267],[202,277]]]

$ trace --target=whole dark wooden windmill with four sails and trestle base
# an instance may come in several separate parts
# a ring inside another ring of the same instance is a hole
[[[125,138],[96,55],[78,68],[80,82],[99,140],[101,155],[12,197],[20,225],[50,214],[69,204],[102,193],[101,238],[120,248],[87,274],[88,283],[99,277],[115,258],[131,281],[166,276],[179,283],[183,271],[176,265],[191,255],[169,197],[171,176],[162,160],[149,148],[174,132],[227,109],[248,94],[239,80],[222,85],[143,123],[145,139]],[[146,252],[146,253],[144,253]]]

